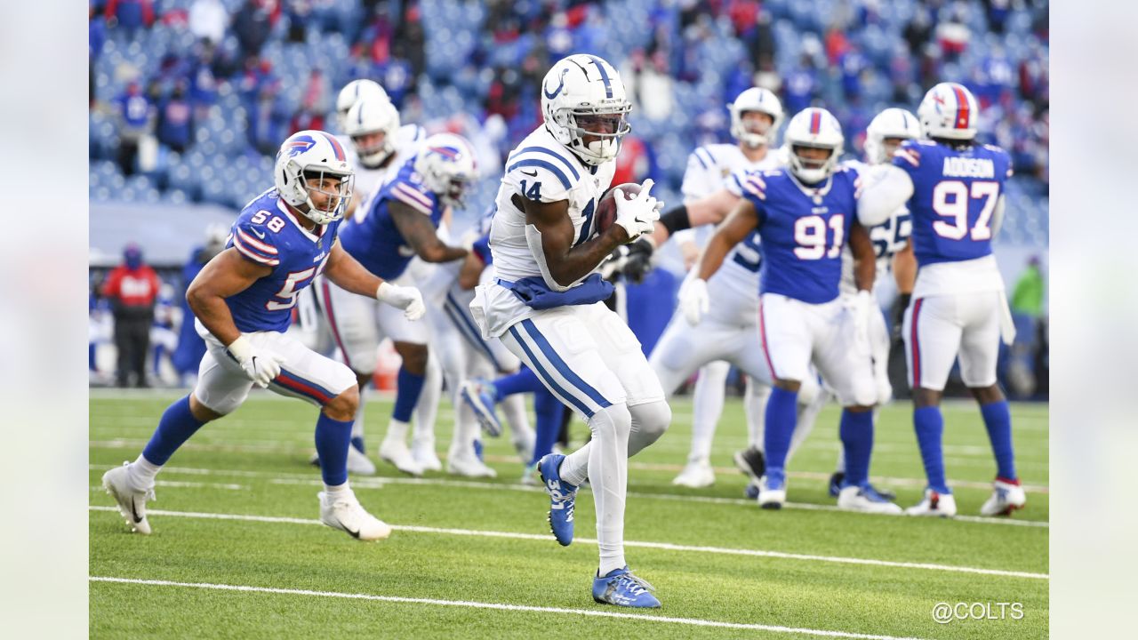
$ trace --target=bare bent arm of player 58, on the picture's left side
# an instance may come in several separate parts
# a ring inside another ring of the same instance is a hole
[[[206,263],[185,289],[185,302],[193,314],[221,344],[229,346],[241,331],[233,323],[225,298],[237,295],[258,279],[272,273],[272,269],[241,257],[230,247]]]

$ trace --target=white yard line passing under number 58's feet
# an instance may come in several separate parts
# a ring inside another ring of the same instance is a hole
[[[115,507],[101,507],[92,506],[88,507],[92,511],[115,511],[118,509]],[[167,511],[152,509],[147,511],[148,515],[152,516],[172,516],[182,518],[204,518],[204,519],[218,519],[218,520],[248,520],[258,523],[284,523],[284,524],[306,524],[306,525],[319,525],[320,520],[308,520],[302,518],[286,518],[286,517],[274,517],[274,516],[249,516],[244,514],[205,514],[199,511]],[[395,531],[404,531],[410,533],[434,533],[442,535],[463,535],[463,536],[478,536],[478,538],[506,538],[511,540],[534,540],[549,542],[552,540],[552,535],[539,535],[535,533],[513,533],[506,531],[477,531],[467,528],[439,528],[439,527],[427,527],[427,526],[411,526],[411,525],[391,525]],[[584,544],[595,544],[596,540],[592,538],[576,538],[575,542]],[[666,551],[687,551],[695,553],[719,553],[719,555],[731,555],[731,556],[750,556],[758,558],[778,558],[786,560],[806,560],[815,563],[838,563],[848,565],[869,565],[877,567],[892,567],[892,568],[906,568],[906,569],[926,569],[926,571],[940,571],[940,572],[953,572],[953,573],[970,573],[980,575],[996,575],[1004,577],[1025,577],[1032,580],[1049,580],[1047,574],[1042,573],[1029,573],[1029,572],[1015,572],[1015,571],[1003,571],[1003,569],[986,569],[980,567],[964,567],[955,565],[937,565],[930,563],[899,563],[892,560],[875,560],[869,558],[847,558],[841,556],[816,556],[809,553],[786,553],[782,551],[762,551],[758,549],[731,549],[725,547],[698,547],[691,544],[673,544],[670,542],[640,542],[634,540],[625,541],[625,547],[640,547],[644,549],[662,549]]]

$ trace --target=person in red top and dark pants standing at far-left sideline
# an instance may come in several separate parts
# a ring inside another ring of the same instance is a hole
[[[102,295],[110,300],[115,318],[115,347],[118,350],[115,379],[121,387],[127,386],[132,372],[134,386],[149,386],[146,356],[159,286],[158,274],[142,261],[142,249],[133,243],[123,248],[123,263],[104,281]]]

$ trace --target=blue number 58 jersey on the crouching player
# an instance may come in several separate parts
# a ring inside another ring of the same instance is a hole
[[[225,298],[238,329],[246,333],[288,329],[297,295],[323,272],[339,225],[336,221],[308,231],[284,208],[275,189],[245,205],[225,246],[273,271]]]

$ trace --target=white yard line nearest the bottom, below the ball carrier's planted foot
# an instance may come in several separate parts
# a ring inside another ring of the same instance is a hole
[[[526,612],[541,614],[568,614],[578,616],[608,617],[621,620],[638,620],[668,624],[686,624],[690,626],[712,626],[719,629],[739,629],[749,631],[773,631],[778,633],[799,633],[823,638],[857,638],[864,640],[917,640],[914,638],[897,638],[893,635],[875,635],[867,633],[850,633],[846,631],[828,631],[823,629],[797,629],[772,624],[748,624],[739,622],[720,622],[715,620],[655,616],[630,614],[615,610],[567,609],[562,607],[534,607],[529,605],[510,605],[505,602],[478,602],[473,600],[439,600],[436,598],[404,598],[402,596],[376,596],[372,593],[344,593],[340,591],[311,591],[308,589],[280,589],[273,586],[251,586],[246,584],[212,584],[206,582],[173,582],[168,580],[138,580],[131,577],[110,577],[92,575],[91,582],[109,582],[119,584],[142,584],[148,586],[181,586],[184,589],[209,589],[215,591],[240,591],[246,593],[273,593],[281,596],[308,596],[314,598],[344,598],[349,600],[372,600],[379,602],[396,602],[401,605],[430,605],[436,607],[465,607],[473,609],[494,609],[501,612]]]

